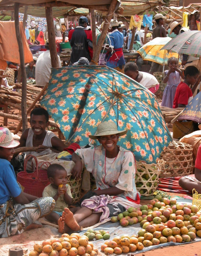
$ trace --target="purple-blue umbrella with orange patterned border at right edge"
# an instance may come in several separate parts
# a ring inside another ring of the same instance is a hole
[[[185,107],[177,120],[192,120],[201,123],[201,92],[198,93]]]

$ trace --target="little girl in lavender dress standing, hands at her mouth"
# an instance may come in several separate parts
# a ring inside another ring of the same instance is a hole
[[[167,66],[169,70],[165,70],[163,83],[167,83],[163,95],[161,106],[166,106],[167,108],[173,108],[173,101],[175,97],[175,92],[178,84],[181,81],[181,78],[184,79],[184,76],[179,67],[178,59],[171,57],[167,60]],[[181,77],[181,78],[180,78]]]

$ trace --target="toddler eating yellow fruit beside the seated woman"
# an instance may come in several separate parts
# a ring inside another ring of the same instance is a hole
[[[43,190],[43,197],[52,197],[56,201],[54,211],[52,211],[46,219],[58,223],[58,219],[62,216],[64,208],[72,203],[72,195],[70,186],[67,184],[67,172],[63,166],[52,164],[47,170],[48,179],[51,182]]]

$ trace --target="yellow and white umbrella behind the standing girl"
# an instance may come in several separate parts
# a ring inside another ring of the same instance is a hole
[[[171,40],[170,37],[156,37],[144,44],[137,52],[145,60],[154,61],[161,65],[167,64],[167,60],[170,57],[178,58],[177,53],[168,53],[167,50],[161,50],[161,48]]]

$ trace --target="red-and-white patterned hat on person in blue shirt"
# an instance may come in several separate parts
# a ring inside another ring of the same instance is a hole
[[[1,147],[16,147],[19,141],[14,140],[8,128],[0,127],[0,146]]]

